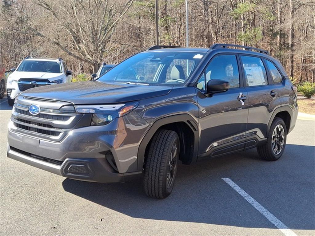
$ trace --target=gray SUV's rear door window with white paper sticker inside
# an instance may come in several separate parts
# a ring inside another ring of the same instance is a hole
[[[246,86],[268,84],[267,73],[262,59],[252,56],[241,56]]]

